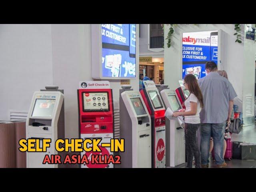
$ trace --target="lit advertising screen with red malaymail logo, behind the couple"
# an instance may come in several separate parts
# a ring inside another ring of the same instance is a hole
[[[189,32],[182,35],[182,78],[194,74],[206,76],[205,63],[218,64],[218,31]]]

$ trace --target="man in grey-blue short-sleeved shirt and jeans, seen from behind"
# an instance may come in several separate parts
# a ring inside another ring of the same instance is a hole
[[[230,121],[233,100],[237,96],[232,84],[216,71],[213,61],[205,64],[207,76],[198,80],[202,91],[204,108],[200,112],[201,120],[201,166],[209,166],[210,137],[214,142],[214,157],[217,167],[226,167],[223,159],[223,142],[226,122]]]

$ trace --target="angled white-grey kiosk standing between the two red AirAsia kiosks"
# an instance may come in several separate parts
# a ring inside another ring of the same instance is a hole
[[[151,168],[151,120],[139,91],[123,86],[120,90],[120,152],[122,168]]]

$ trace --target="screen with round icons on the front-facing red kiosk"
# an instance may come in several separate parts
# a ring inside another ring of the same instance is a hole
[[[109,111],[108,92],[82,92],[83,111]]]

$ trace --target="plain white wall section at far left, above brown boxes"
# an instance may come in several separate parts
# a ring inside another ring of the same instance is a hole
[[[34,91],[52,84],[50,24],[0,25],[0,120],[28,110]]]

